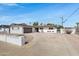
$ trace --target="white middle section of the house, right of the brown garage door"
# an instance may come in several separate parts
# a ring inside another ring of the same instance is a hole
[[[54,26],[33,26],[33,32],[50,32],[50,33],[57,33],[57,28]]]

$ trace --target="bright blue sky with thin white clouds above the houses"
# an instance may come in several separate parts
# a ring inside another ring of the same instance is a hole
[[[61,25],[61,16],[65,20],[77,8],[78,3],[0,3],[0,24],[11,23],[53,23]],[[64,26],[76,26],[79,22],[77,10]]]

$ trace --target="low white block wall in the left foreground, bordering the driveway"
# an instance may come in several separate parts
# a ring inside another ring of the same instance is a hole
[[[8,42],[18,46],[22,46],[25,44],[24,36],[5,34],[5,33],[4,34],[0,33],[0,41]]]

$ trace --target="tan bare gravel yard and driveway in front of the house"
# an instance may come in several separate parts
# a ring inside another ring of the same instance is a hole
[[[79,56],[79,35],[28,33],[27,44],[16,46],[0,41],[1,56]]]

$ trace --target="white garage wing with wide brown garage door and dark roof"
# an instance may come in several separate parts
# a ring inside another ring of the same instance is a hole
[[[10,33],[11,34],[24,34],[31,33],[32,27],[26,24],[11,24]]]

